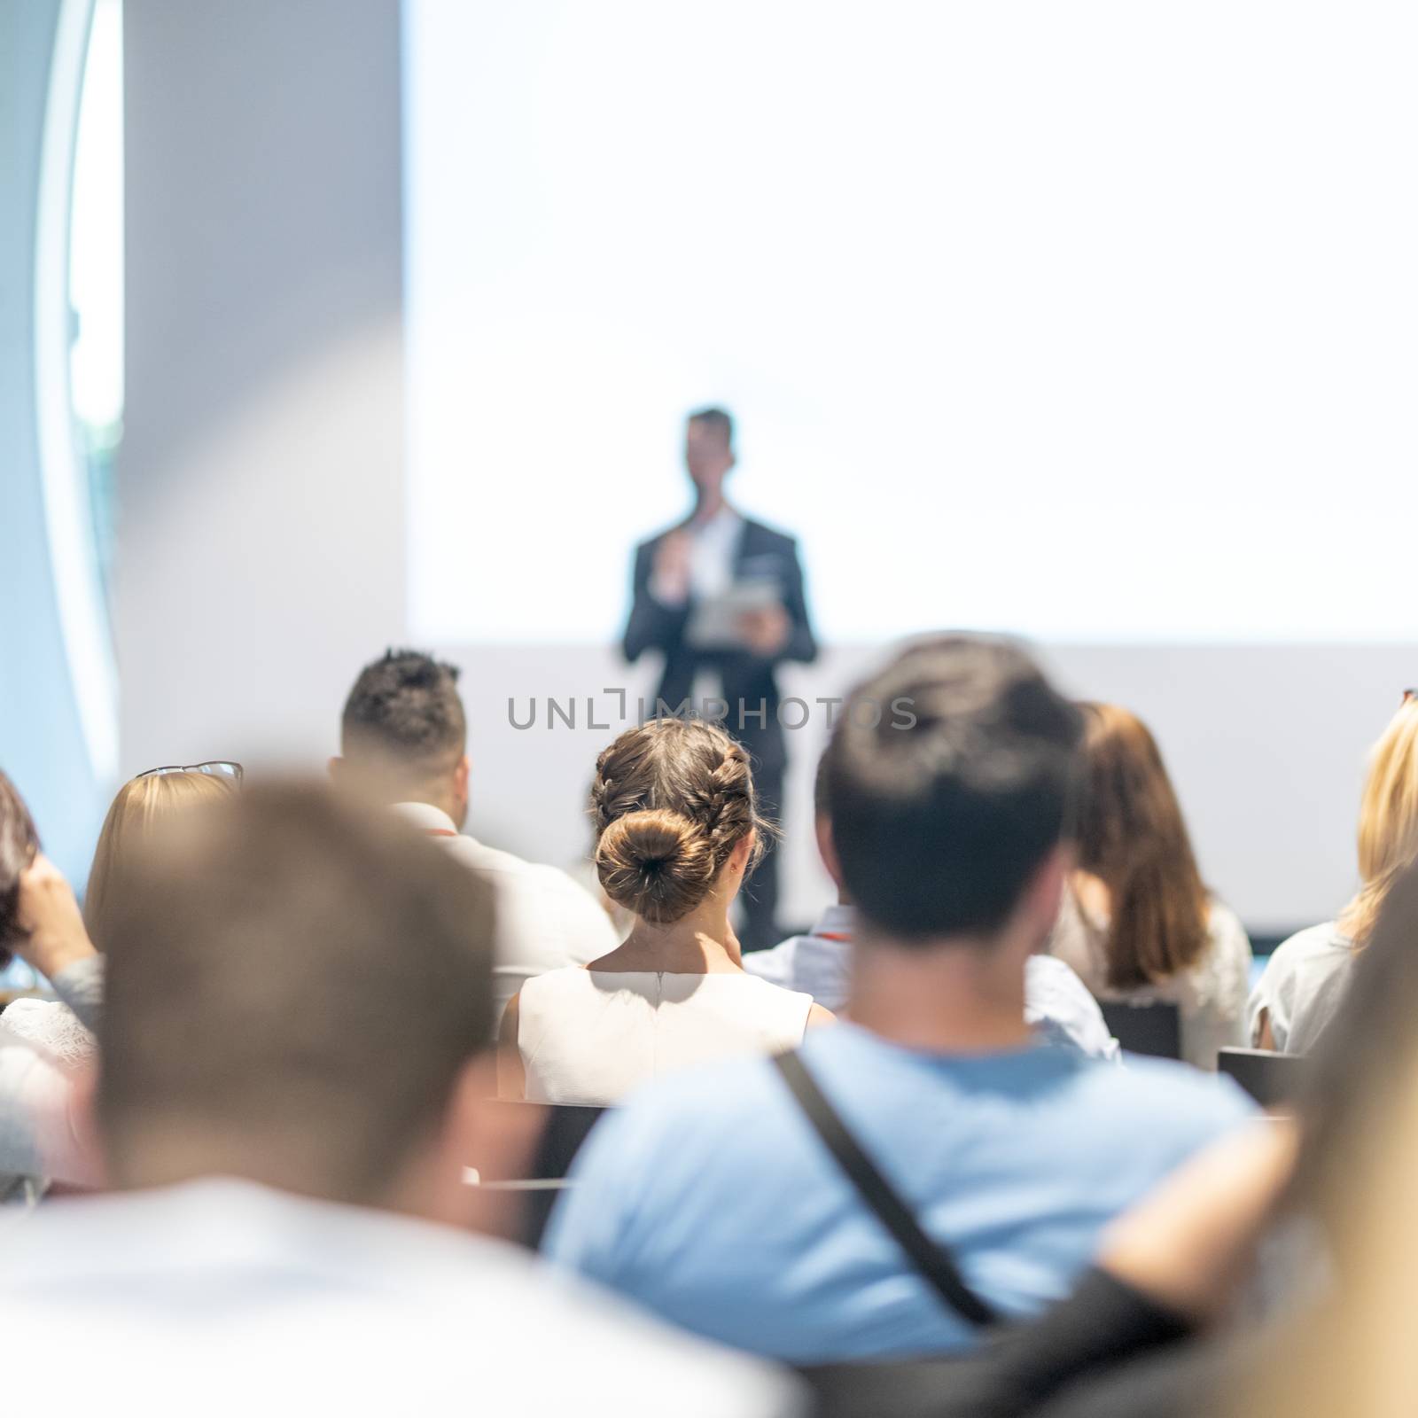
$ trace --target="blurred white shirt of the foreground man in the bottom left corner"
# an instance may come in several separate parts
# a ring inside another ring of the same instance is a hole
[[[247,1181],[40,1208],[4,1231],[0,1313],[13,1412],[798,1412],[525,1251]]]

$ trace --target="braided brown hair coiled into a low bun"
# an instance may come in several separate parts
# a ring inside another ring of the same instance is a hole
[[[644,920],[679,920],[709,895],[729,854],[771,827],[759,817],[749,754],[700,719],[651,719],[596,760],[596,872]]]

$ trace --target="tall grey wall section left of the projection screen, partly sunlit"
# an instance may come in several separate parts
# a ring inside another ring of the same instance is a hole
[[[404,624],[396,0],[126,0],[122,766],[305,761]]]

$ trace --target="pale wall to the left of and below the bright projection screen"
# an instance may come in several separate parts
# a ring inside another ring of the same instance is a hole
[[[316,769],[356,669],[404,632],[397,6],[128,0],[126,43],[123,766]],[[498,535],[467,527],[468,556]],[[1296,556],[1320,570],[1316,549]],[[647,691],[648,666],[584,647],[438,648],[465,671],[472,828],[547,861],[579,854],[613,730],[547,730],[545,700],[614,708],[603,691]],[[832,649],[790,672],[788,692],[839,693],[871,658]],[[1069,689],[1153,725],[1202,866],[1252,927],[1344,899],[1364,750],[1418,681],[1418,647],[1048,658]],[[525,713],[533,695],[542,726],[519,732],[506,700]],[[820,733],[791,736],[790,828],[805,822]],[[807,834],[787,854],[786,910],[801,919],[825,885]]]

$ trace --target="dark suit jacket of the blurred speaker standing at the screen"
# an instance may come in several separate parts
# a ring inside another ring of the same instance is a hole
[[[678,530],[671,527],[669,530]],[[807,598],[803,591],[803,567],[798,563],[797,543],[783,532],[774,532],[761,522],[747,518],[743,533],[733,553],[735,576],[754,580],[774,579],[788,613],[793,628],[783,649],[771,659],[747,651],[702,651],[685,642],[685,628],[695,610],[691,594],[681,607],[661,605],[649,594],[649,580],[655,566],[655,552],[668,532],[652,536],[635,547],[635,571],[632,579],[632,600],[630,623],[621,642],[625,658],[635,661],[647,649],[658,649],[665,655],[665,671],[659,679],[658,698],[674,709],[682,699],[693,693],[695,672],[700,666],[712,668],[723,679],[723,698],[729,700],[729,718],[725,727],[753,754],[756,767],[781,769],[787,750],[783,740],[783,726],[778,723],[778,682],[776,665],[783,659],[798,659],[808,664],[817,658],[817,641],[807,615]],[[766,723],[760,725],[757,710],[766,710]],[[739,723],[739,706],[743,705],[743,726]],[[752,718],[750,718],[752,715]],[[797,722],[801,713],[791,722]]]

